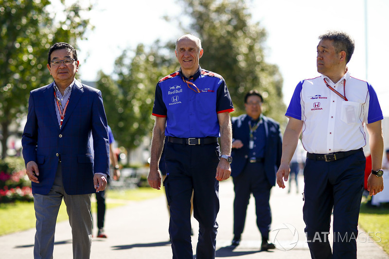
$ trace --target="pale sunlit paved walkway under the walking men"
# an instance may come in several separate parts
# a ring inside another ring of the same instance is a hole
[[[300,189],[303,188],[300,178]],[[260,233],[255,224],[254,200],[248,207],[242,242],[235,249],[229,247],[232,240],[232,203],[234,198],[231,180],[220,183],[220,211],[217,222],[216,258],[240,259],[309,259],[310,253],[304,235],[302,221],[302,190],[290,194],[275,187],[271,194],[273,213],[270,238],[279,249],[261,252]],[[109,193],[108,193],[109,196]],[[32,217],[34,215],[31,215]],[[91,259],[169,259],[172,251],[168,235],[169,216],[165,197],[141,202],[129,202],[106,212],[107,239],[93,238]],[[192,243],[196,247],[198,224],[192,217],[195,236]],[[296,231],[294,232],[294,230]],[[96,229],[95,229],[96,231]],[[96,235],[94,231],[94,235]],[[294,235],[292,233],[295,233]],[[0,258],[32,258],[35,229],[0,237]],[[370,240],[360,230],[357,239],[358,258],[389,259],[381,247]],[[286,250],[286,251],[285,251]],[[69,259],[72,254],[71,229],[67,221],[57,224],[55,233],[54,259]],[[194,257],[195,258],[195,257]]]

